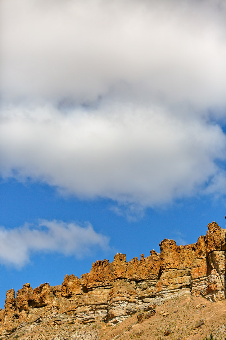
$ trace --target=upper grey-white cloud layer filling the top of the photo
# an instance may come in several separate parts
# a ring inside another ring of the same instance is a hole
[[[0,4],[5,99],[81,103],[114,92],[145,102],[225,106],[225,1]]]

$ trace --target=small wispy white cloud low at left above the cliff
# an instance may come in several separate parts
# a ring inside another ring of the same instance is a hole
[[[74,222],[41,220],[37,226],[24,224],[14,229],[0,227],[0,262],[22,267],[32,253],[55,252],[81,257],[93,247],[109,249],[109,238],[93,227]]]

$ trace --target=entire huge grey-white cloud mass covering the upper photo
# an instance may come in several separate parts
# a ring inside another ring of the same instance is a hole
[[[3,177],[118,214],[221,190],[225,1],[0,5]]]

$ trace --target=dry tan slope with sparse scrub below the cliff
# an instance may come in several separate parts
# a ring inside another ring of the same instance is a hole
[[[199,305],[199,306],[197,306]],[[165,333],[165,335],[164,335]],[[21,340],[130,340],[130,339],[190,339],[203,340],[210,337],[226,338],[226,302],[211,303],[191,296],[174,297],[156,307],[156,314],[138,323],[137,314],[125,321],[108,326],[95,324],[53,325],[40,323],[26,325],[12,335],[1,339]]]

